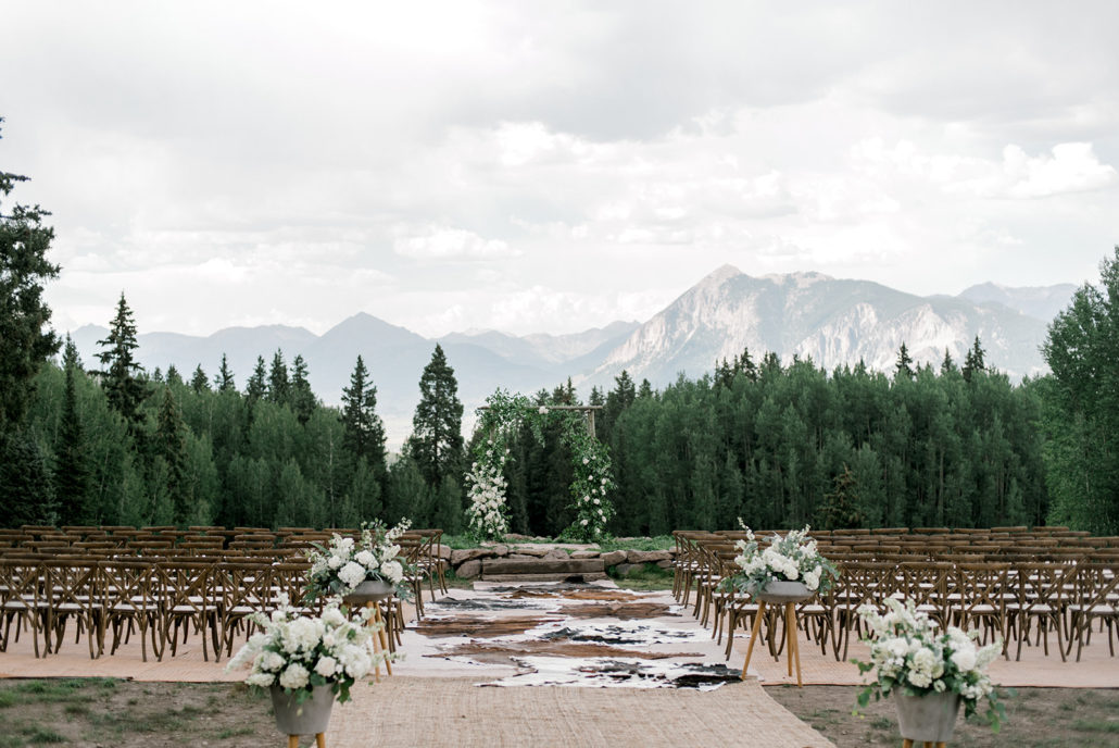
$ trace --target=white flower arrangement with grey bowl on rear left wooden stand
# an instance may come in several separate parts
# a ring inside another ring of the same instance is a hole
[[[336,534],[327,546],[312,543],[307,552],[311,569],[303,601],[310,604],[335,595],[376,598],[393,592],[411,599],[408,577],[415,569],[401,555],[401,546],[396,544],[408,526],[407,520],[391,530],[380,522],[365,523],[358,540]]]

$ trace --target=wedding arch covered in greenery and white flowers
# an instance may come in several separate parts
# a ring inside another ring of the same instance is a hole
[[[506,502],[505,465],[509,460],[509,440],[527,424],[538,441],[544,428],[561,426],[561,440],[571,448],[575,478],[571,483],[575,520],[564,537],[596,541],[608,537],[606,524],[614,516],[606,498],[614,488],[610,452],[594,436],[595,406],[534,405],[523,394],[498,390],[478,409],[478,428],[488,434],[474,447],[473,464],[467,473],[470,505],[467,522],[477,535],[495,540],[509,531]],[[584,419],[583,413],[590,418]]]

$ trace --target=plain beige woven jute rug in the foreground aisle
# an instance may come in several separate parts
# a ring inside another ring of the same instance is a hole
[[[383,679],[335,707],[327,745],[587,748],[833,746],[754,680],[715,691],[479,686],[473,679]]]

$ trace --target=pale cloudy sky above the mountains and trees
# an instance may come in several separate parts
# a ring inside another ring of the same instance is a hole
[[[643,320],[723,263],[1080,283],[1119,3],[0,0],[59,329]],[[847,3],[850,4],[850,3]]]

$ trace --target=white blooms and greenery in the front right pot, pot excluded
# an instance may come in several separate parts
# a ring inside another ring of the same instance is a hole
[[[869,628],[863,641],[871,646],[871,662],[853,662],[859,673],[876,671],[874,681],[858,694],[859,705],[869,703],[872,694],[881,699],[895,689],[914,696],[947,691],[960,695],[965,718],[986,701],[984,716],[998,732],[1006,709],[986,668],[1003,651],[1002,641],[977,647],[975,632],[967,634],[955,626],[941,632],[928,615],[916,610],[913,600],[887,598],[885,606],[885,615],[873,605],[858,608],[859,618]]]

